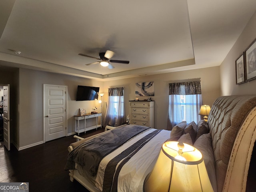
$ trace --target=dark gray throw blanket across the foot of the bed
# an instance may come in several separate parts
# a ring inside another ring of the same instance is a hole
[[[75,169],[75,163],[77,163],[89,174],[95,176],[101,160],[106,155],[147,129],[149,127],[126,125],[122,128],[110,130],[108,134],[92,138],[80,144],[68,154],[65,170]],[[98,150],[99,148],[100,150]]]

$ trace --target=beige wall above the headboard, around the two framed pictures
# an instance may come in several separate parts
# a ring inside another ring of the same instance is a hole
[[[256,79],[236,85],[236,59],[256,38],[256,12],[220,66],[221,95],[256,94]]]

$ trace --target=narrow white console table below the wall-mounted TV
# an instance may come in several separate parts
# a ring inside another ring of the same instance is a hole
[[[86,132],[88,130],[92,130],[92,129],[97,129],[98,127],[101,127],[101,124],[98,124],[98,117],[101,117],[102,114],[101,113],[96,113],[96,114],[85,114],[85,115],[75,115],[74,119],[75,119],[75,132],[81,133],[81,132]],[[90,119],[90,118],[96,118],[96,124],[90,127],[86,127],[86,119]],[[84,120],[84,128],[80,128],[80,124],[79,121],[80,120]],[[76,121],[77,126],[76,126]]]

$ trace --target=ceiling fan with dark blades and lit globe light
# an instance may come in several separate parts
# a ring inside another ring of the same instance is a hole
[[[100,61],[89,63],[89,64],[86,64],[86,65],[92,65],[92,64],[100,63],[101,66],[104,66],[104,67],[107,66],[109,69],[113,69],[114,66],[112,66],[110,64],[110,62],[112,62],[112,63],[129,64],[130,61],[125,61],[125,60],[109,60],[110,58],[112,58],[112,56],[114,56],[114,54],[115,53],[113,51],[107,50],[106,52],[102,52],[102,53],[99,54],[100,58],[96,58],[96,57],[93,57],[93,56],[90,56],[90,55],[86,55],[86,54],[82,54],[82,53],[79,53],[78,55],[100,60]]]

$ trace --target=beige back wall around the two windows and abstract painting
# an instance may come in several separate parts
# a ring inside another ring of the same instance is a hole
[[[143,76],[138,78],[127,78],[122,80],[113,80],[104,82],[103,100],[107,101],[107,93],[109,87],[124,86],[124,100],[126,108],[126,116],[129,114],[129,100],[134,100],[135,83],[154,81],[155,96],[152,96],[155,101],[155,128],[166,129],[168,116],[168,93],[169,83],[174,80],[186,80],[201,78],[202,97],[204,104],[212,106],[214,100],[220,96],[220,72],[219,66],[211,68],[203,68],[196,70],[187,70],[181,72],[172,72],[166,74]],[[147,97],[138,97],[144,100]]]

